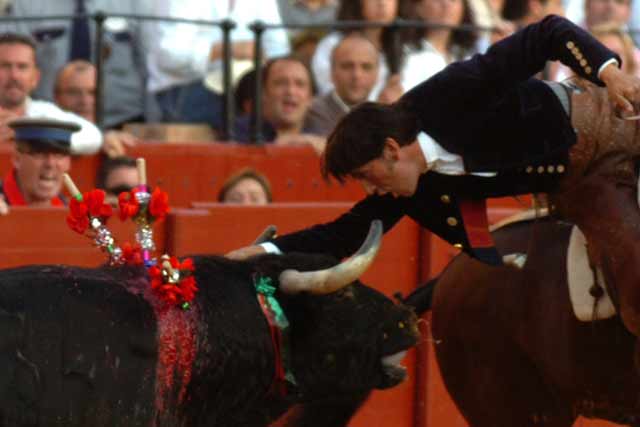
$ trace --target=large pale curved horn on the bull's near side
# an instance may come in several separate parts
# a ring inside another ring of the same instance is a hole
[[[380,248],[381,238],[382,221],[376,219],[371,222],[364,243],[351,258],[325,270],[285,270],[280,273],[280,289],[288,294],[306,291],[324,295],[344,288],[369,268]]]

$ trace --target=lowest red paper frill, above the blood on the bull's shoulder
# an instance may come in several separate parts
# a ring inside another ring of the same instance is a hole
[[[177,283],[171,283],[168,278],[168,272],[162,266],[154,265],[149,268],[149,277],[151,279],[151,289],[165,303],[170,305],[182,305],[193,301],[198,287],[192,273],[194,270],[193,260],[186,258],[180,262],[176,257],[169,259],[171,267],[180,271],[180,280]]]

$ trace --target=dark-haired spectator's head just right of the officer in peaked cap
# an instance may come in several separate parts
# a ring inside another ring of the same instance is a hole
[[[107,158],[100,165],[96,188],[105,191],[107,203],[117,205],[120,193],[131,191],[138,185],[140,176],[135,159],[127,156]]]

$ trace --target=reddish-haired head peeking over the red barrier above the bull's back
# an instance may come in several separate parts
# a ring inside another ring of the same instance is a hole
[[[251,168],[241,169],[227,178],[218,193],[220,203],[266,205],[271,201],[269,180]]]

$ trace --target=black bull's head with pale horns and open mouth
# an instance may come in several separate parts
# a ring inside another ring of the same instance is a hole
[[[309,393],[366,392],[393,387],[406,377],[400,362],[419,338],[413,310],[358,282],[381,236],[382,224],[374,221],[356,254],[337,265],[310,254],[254,260],[255,268],[279,278],[279,299],[291,324],[294,375]]]

